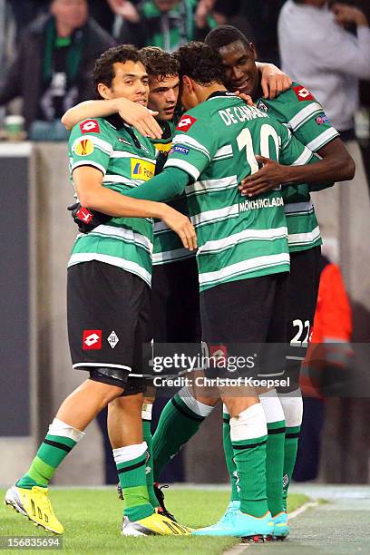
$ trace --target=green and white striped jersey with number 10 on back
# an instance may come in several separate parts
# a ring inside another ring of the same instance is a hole
[[[287,127],[233,93],[218,92],[178,123],[165,168],[186,171],[190,218],[197,230],[200,291],[229,281],[289,270],[280,190],[243,197],[241,179],[258,170],[256,154],[305,164],[312,152]]]

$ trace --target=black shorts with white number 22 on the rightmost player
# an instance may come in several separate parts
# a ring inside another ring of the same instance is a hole
[[[288,351],[287,375],[297,389],[299,368],[307,351],[316,311],[320,282],[321,247],[290,253],[290,280],[288,294]]]

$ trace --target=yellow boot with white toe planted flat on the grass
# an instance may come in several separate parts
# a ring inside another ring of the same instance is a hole
[[[154,512],[140,521],[123,517],[122,536],[190,536],[192,529]]]

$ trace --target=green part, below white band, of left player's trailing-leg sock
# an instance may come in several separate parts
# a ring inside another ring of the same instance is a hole
[[[69,437],[47,433],[30,468],[15,485],[25,490],[31,490],[34,486],[47,488],[55,470],[76,443]]]

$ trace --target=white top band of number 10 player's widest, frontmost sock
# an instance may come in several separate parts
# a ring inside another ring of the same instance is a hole
[[[232,442],[240,442],[268,434],[268,426],[263,406],[260,403],[230,418],[230,438]]]

